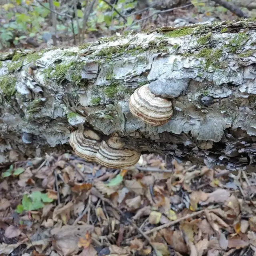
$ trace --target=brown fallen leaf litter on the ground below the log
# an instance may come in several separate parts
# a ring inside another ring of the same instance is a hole
[[[0,255],[256,255],[256,174],[143,155],[113,170],[71,154],[2,170]]]

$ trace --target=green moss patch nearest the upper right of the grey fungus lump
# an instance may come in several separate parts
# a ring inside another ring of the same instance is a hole
[[[205,69],[208,70],[210,66],[214,68],[221,68],[220,58],[222,56],[222,49],[211,49],[205,48],[202,49],[196,57],[205,59]]]

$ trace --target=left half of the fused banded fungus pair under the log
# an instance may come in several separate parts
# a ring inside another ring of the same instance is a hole
[[[92,130],[78,129],[71,133],[70,146],[76,154],[88,162],[96,161],[96,155],[100,149],[101,138]]]

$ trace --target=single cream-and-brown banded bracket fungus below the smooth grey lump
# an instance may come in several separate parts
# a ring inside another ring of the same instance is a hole
[[[129,101],[130,112],[143,122],[159,126],[172,117],[172,102],[155,96],[148,89],[148,84],[137,88]]]

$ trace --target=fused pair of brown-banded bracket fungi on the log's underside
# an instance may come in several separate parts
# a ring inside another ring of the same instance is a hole
[[[140,153],[125,148],[120,137],[113,135],[105,141],[92,130],[80,128],[72,132],[70,146],[86,161],[96,162],[109,168],[133,166],[140,159]]]

